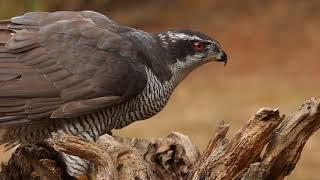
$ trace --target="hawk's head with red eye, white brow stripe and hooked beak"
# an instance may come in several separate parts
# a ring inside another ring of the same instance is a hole
[[[220,44],[201,32],[173,30],[157,36],[168,52],[169,69],[178,80],[202,64],[211,61],[227,63],[227,55]]]

